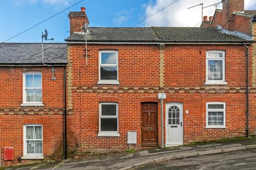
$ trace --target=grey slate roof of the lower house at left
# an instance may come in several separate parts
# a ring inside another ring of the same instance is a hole
[[[45,43],[44,63],[66,64],[67,45]],[[42,44],[0,43],[0,64],[42,64]]]

